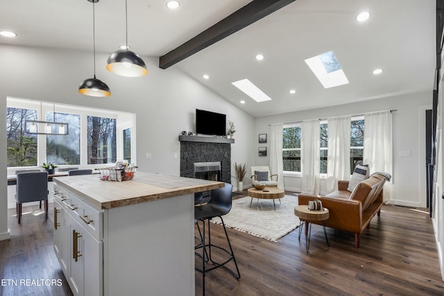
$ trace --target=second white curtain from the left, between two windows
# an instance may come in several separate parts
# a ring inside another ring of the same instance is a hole
[[[319,194],[320,126],[319,120],[307,120],[301,124],[301,171],[302,193]]]

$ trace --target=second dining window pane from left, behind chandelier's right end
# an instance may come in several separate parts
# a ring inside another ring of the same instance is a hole
[[[46,135],[46,162],[57,165],[80,165],[80,115],[46,113],[46,121],[67,122],[68,135]]]

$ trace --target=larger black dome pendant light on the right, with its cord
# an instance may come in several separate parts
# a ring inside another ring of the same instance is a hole
[[[126,15],[126,43],[123,49],[114,51],[108,58],[106,69],[108,71],[126,77],[140,77],[146,75],[146,65],[138,54],[130,51],[128,47],[128,3],[125,0]]]

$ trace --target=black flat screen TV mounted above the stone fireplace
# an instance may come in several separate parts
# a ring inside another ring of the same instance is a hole
[[[226,115],[196,109],[196,133],[202,135],[225,135]]]

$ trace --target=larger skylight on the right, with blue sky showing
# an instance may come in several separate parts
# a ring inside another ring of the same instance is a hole
[[[307,63],[324,88],[334,88],[335,86],[348,84],[348,79],[345,77],[345,73],[333,51],[308,58],[305,60],[305,63]]]

